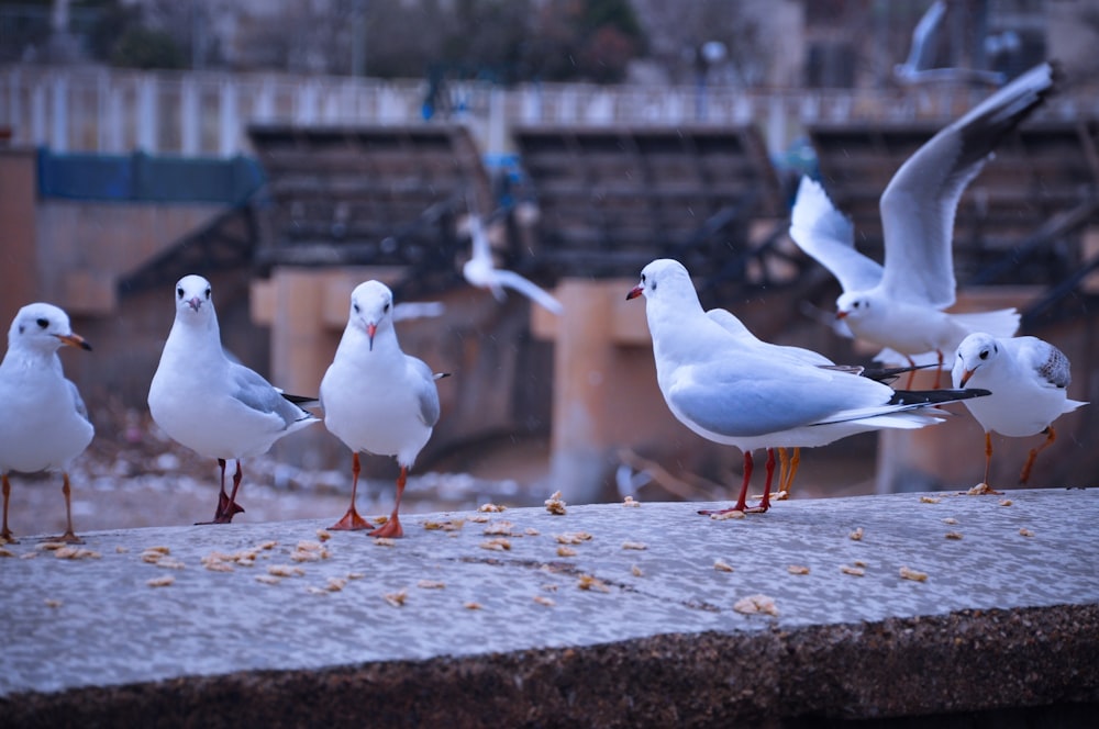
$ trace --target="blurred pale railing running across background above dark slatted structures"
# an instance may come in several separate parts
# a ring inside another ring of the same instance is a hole
[[[431,98],[429,98],[429,93]],[[482,152],[514,152],[509,131],[532,124],[755,124],[768,149],[785,150],[820,122],[944,121],[988,89],[754,90],[718,86],[528,83],[502,88],[289,74],[134,71],[0,66],[0,125],[12,142],[54,152],[248,154],[249,124],[411,124],[425,116],[469,127]],[[430,112],[428,111],[430,109]],[[1099,115],[1099,94],[1065,94],[1051,119]]]

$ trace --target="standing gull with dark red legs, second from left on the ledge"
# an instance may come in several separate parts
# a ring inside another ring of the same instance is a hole
[[[307,397],[284,394],[221,344],[210,282],[185,276],[176,283],[176,318],[148,388],[153,420],[168,436],[221,467],[221,493],[210,524],[229,524],[244,509],[236,503],[241,459],[260,456],[279,438],[320,418],[300,405]],[[225,493],[225,462],[236,461],[233,492]]]

